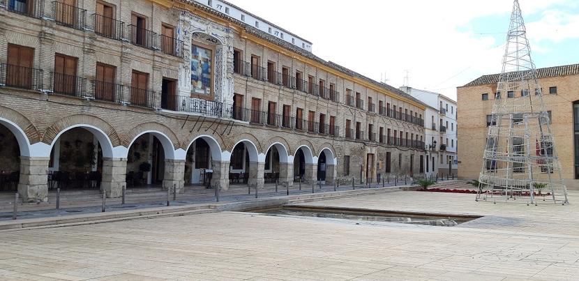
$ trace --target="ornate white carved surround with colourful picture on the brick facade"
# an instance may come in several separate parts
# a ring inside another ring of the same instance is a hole
[[[195,111],[207,100],[232,104],[231,29],[183,11],[177,35],[184,43],[179,66],[180,109]]]

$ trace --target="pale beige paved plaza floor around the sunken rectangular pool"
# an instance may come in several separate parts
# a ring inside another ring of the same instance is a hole
[[[567,206],[399,191],[307,205],[484,215],[457,227],[206,213],[1,231],[0,280],[579,280]]]

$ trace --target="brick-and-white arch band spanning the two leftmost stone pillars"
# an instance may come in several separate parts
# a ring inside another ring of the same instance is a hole
[[[82,127],[87,129],[91,128],[91,132],[96,134],[102,132],[103,135],[100,137],[105,137],[107,139],[107,142],[105,143],[111,144],[111,147],[122,145],[121,138],[116,133],[116,130],[114,130],[114,128],[110,125],[110,123],[107,123],[107,121],[104,121],[103,119],[100,119],[96,116],[84,114],[75,114],[66,116],[60,119],[59,121],[53,123],[52,126],[50,126],[50,128],[47,128],[46,131],[44,132],[42,142],[44,142],[45,144],[50,144],[52,146],[54,140],[57,139],[57,137],[61,134],[61,132],[64,132],[70,128],[75,127]],[[101,142],[101,139],[98,139],[98,141]],[[105,148],[103,147],[103,153],[104,149]],[[110,157],[112,157],[112,154]]]

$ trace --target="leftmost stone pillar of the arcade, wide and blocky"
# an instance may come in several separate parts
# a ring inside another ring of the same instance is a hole
[[[18,194],[22,202],[48,202],[50,158],[20,156]]]

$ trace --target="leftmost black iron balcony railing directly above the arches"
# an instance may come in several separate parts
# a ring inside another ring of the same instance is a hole
[[[43,70],[0,63],[0,86],[43,90]]]

